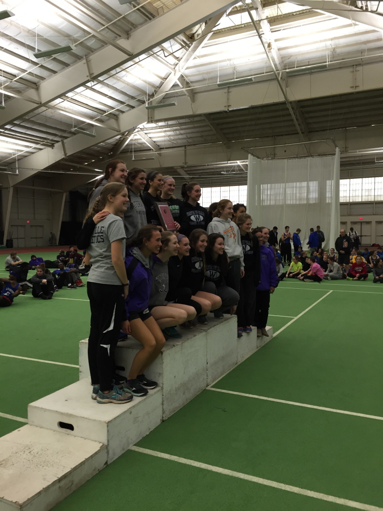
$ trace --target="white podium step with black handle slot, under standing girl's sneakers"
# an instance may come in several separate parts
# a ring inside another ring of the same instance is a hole
[[[108,463],[146,436],[162,419],[159,387],[145,397],[120,405],[99,404],[90,398],[84,378],[28,406],[28,422],[107,446]]]

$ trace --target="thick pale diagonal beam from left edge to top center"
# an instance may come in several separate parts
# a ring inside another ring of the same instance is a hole
[[[34,100],[40,105],[51,103],[67,92],[85,85],[89,81],[99,78],[113,71],[119,66],[153,50],[159,44],[169,41],[176,35],[192,28],[207,18],[226,11],[235,4],[235,0],[186,0],[174,9],[152,19],[147,24],[133,31],[129,39],[121,39],[119,45],[124,52],[107,45],[101,50],[89,55],[74,65],[63,69],[60,73],[42,81],[38,90],[29,90]],[[129,57],[126,52],[130,53]],[[28,100],[11,100],[2,112],[2,126],[33,111],[35,106]],[[125,131],[125,130],[124,130]]]

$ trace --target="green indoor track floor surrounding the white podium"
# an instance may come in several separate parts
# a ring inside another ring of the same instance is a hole
[[[27,255],[22,254],[23,259]],[[55,253],[38,255],[54,259]],[[333,292],[307,310],[329,290]],[[214,387],[383,416],[378,313],[383,296],[377,296],[382,293],[383,286],[372,279],[322,284],[283,281],[271,297],[270,314],[275,316],[268,324],[276,333],[293,319],[281,316],[302,316]],[[0,353],[78,364],[78,341],[88,335],[89,305],[77,300],[87,300],[86,289],[63,289],[44,302],[28,294],[16,298],[12,307],[0,309]],[[11,387],[22,380],[28,388],[16,394],[3,392],[0,412],[26,417],[28,403],[75,382],[78,368],[0,356],[0,374]],[[0,435],[21,426],[0,417]],[[383,506],[382,437],[380,420],[205,390],[137,445]],[[54,510],[125,507],[132,511],[351,509],[128,451]]]

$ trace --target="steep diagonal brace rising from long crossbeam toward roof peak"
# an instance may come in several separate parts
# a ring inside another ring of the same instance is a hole
[[[216,27],[216,25],[220,22],[220,20],[225,16],[226,12],[220,12],[216,16],[213,16],[209,21],[206,23],[204,29],[202,30],[201,36],[195,41],[190,48],[186,51],[185,55],[181,58],[181,60],[177,63],[176,67],[174,68],[173,73],[171,73],[166,80],[163,82],[163,84],[160,86],[160,88],[156,91],[155,97],[150,102],[151,105],[157,105],[163,98],[163,96],[166,94],[166,92],[169,92],[169,90],[173,87],[173,85],[176,83],[178,78],[182,75],[182,73],[185,71],[186,67],[189,65],[189,63],[194,59],[196,56],[196,53],[201,50],[203,45],[209,40],[209,37],[211,36],[212,30]]]

